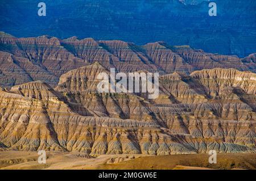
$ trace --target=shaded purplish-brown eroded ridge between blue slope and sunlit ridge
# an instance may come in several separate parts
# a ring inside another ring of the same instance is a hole
[[[76,37],[57,39],[50,36],[16,38],[0,32],[0,86],[11,87],[30,81],[56,86],[69,70],[100,62],[106,68],[130,72],[147,70],[169,74],[190,74],[195,70],[234,68],[256,70],[255,56],[238,58],[205,53],[184,46],[170,46],[162,41],[138,46],[125,41],[97,41]]]

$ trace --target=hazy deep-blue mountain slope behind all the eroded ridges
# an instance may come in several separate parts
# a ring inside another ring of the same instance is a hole
[[[2,0],[0,30],[17,37],[76,35],[139,45],[166,41],[239,57],[256,52],[254,0],[216,0],[216,17],[208,15],[209,2],[199,0],[183,0],[186,5],[179,0],[44,2],[47,16],[40,17],[38,1]]]

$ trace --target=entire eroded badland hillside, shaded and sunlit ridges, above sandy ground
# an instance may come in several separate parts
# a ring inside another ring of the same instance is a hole
[[[1,150],[255,153],[254,55],[4,33],[1,50]],[[159,97],[98,92],[110,67],[161,71]]]

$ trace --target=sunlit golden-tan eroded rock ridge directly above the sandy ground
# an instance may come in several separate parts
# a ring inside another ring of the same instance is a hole
[[[96,62],[61,75],[54,90],[42,81],[1,89],[1,148],[93,156],[254,152],[254,73],[213,69],[162,75],[159,98],[149,101],[98,92],[96,77],[103,72],[109,74]]]

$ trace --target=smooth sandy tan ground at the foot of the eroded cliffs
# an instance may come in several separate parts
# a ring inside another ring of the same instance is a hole
[[[0,151],[0,169],[256,169],[256,154],[218,154],[213,165],[208,163],[208,154],[92,158],[81,153],[47,152],[46,164],[39,164],[38,157],[34,151]]]

